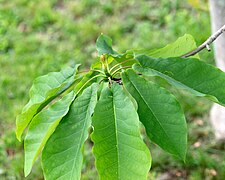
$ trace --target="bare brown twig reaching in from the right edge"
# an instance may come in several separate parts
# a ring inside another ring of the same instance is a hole
[[[223,32],[225,32],[225,25],[223,25],[218,31],[216,31],[212,36],[210,36],[203,44],[201,44],[199,47],[197,47],[196,49],[194,49],[193,51],[182,55],[182,58],[187,58],[190,56],[193,56],[195,54],[197,54],[198,52],[200,52],[201,50],[207,48],[208,51],[211,51],[209,45],[213,43],[213,41],[215,41],[221,34],[223,34]]]

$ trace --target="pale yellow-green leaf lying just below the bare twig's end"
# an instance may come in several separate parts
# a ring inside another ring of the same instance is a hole
[[[153,50],[129,50],[129,53],[135,54],[135,56],[144,54],[155,58],[169,58],[169,57],[181,57],[182,55],[196,49],[196,43],[194,38],[190,34],[178,38],[174,43],[168,44],[167,46],[160,49]],[[193,56],[199,58],[198,55]]]

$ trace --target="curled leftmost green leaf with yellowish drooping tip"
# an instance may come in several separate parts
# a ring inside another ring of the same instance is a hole
[[[60,72],[51,72],[35,79],[30,89],[30,101],[16,118],[16,136],[19,141],[21,141],[21,135],[33,116],[43,108],[42,105],[49,102],[53,96],[60,94],[58,92],[62,88],[74,81],[79,66],[69,67]]]

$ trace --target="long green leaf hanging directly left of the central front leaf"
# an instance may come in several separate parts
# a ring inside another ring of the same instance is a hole
[[[45,179],[80,179],[81,148],[88,137],[91,115],[97,102],[97,84],[85,89],[70,107],[42,152]]]

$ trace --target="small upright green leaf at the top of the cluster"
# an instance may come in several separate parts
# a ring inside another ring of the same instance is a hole
[[[101,34],[96,41],[96,49],[98,55],[102,54],[115,54],[112,49],[112,39],[104,34]]]

